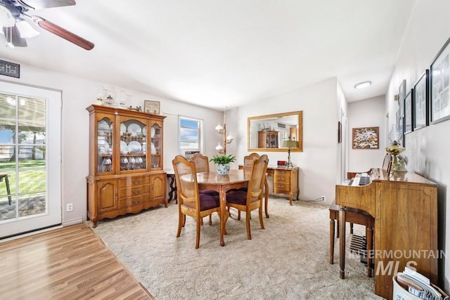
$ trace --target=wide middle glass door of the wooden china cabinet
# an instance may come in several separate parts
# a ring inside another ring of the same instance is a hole
[[[120,173],[141,172],[147,167],[147,120],[119,117],[120,124]]]

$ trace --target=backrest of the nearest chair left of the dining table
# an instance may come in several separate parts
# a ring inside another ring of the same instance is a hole
[[[188,205],[200,211],[195,164],[182,155],[176,155],[172,160],[172,165],[174,166],[178,204]]]

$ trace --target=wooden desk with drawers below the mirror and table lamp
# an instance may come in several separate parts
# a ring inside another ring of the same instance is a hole
[[[298,172],[299,167],[267,167],[267,174],[273,178],[272,191],[276,194],[289,195],[290,205],[293,204],[294,194],[297,194],[296,200],[298,200],[300,194],[298,189]]]

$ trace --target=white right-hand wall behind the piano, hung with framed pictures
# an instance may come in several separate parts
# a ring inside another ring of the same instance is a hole
[[[417,0],[404,34],[397,65],[390,81],[385,102],[389,107],[390,124],[398,105],[394,95],[399,93],[402,79],[406,90],[413,87],[420,74],[429,69],[439,49],[450,37],[450,1]],[[450,121],[431,124],[406,135],[404,156],[409,160],[406,169],[417,172],[439,184],[438,190],[438,242],[447,258],[439,263],[439,278],[450,290]]]

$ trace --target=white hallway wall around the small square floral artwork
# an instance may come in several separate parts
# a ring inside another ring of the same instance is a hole
[[[362,172],[382,166],[386,153],[385,111],[385,96],[349,103],[349,171]],[[379,149],[352,149],[352,129],[361,127],[379,127]]]

